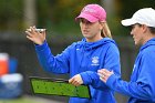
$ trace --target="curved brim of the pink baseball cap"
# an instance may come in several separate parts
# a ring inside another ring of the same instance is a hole
[[[99,19],[96,19],[90,14],[85,14],[85,13],[81,13],[79,17],[75,18],[75,20],[78,21],[81,18],[84,18],[84,19],[89,20],[90,22],[96,22],[99,20]]]

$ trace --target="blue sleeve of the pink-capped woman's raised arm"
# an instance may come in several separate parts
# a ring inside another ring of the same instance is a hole
[[[68,73],[69,72],[69,51],[66,48],[61,54],[54,56],[44,41],[42,45],[35,45],[38,60],[45,71],[53,73]]]

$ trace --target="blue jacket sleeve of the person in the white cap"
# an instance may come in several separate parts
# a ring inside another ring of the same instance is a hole
[[[121,80],[115,74],[111,75],[106,84],[128,96],[133,96],[140,100],[155,101],[155,54],[147,53],[142,56],[138,71],[136,73],[136,81],[126,82]],[[134,70],[135,71],[135,70]]]

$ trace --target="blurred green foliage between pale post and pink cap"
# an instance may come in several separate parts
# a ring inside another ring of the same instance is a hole
[[[45,4],[42,4],[46,2]],[[80,34],[79,23],[74,18],[87,3],[100,3],[99,0],[38,0],[38,25],[45,27],[50,33],[66,35]],[[44,9],[45,7],[49,7]],[[42,11],[42,12],[41,12]],[[44,12],[46,13],[44,13]],[[44,13],[44,14],[43,14]]]

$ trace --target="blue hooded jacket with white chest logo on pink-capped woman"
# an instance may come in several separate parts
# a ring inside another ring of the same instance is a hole
[[[83,39],[68,47],[54,56],[46,42],[35,45],[38,59],[44,70],[53,73],[70,73],[70,78],[81,74],[84,84],[91,90],[92,99],[71,97],[70,103],[115,103],[114,92],[97,75],[97,70],[106,68],[117,75],[120,71],[120,52],[114,40],[104,38],[96,42]]]

